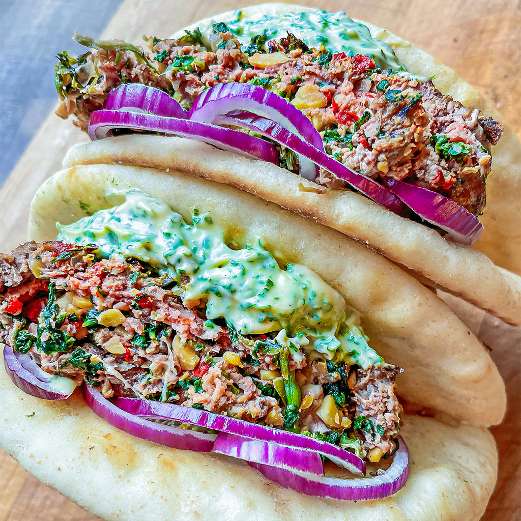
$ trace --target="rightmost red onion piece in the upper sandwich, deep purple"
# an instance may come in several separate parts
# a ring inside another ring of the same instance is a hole
[[[478,218],[452,199],[389,177],[383,180],[414,213],[448,232],[457,242],[469,246],[483,233]]]

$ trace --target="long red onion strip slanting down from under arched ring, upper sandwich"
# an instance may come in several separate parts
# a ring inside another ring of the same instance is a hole
[[[236,110],[227,115],[216,116],[212,122],[216,125],[236,125],[254,130],[288,147],[293,152],[307,157],[314,164],[331,172],[339,179],[348,182],[353,188],[367,195],[369,199],[372,199],[392,212],[403,214],[406,210],[405,205],[400,199],[393,195],[386,187],[383,187],[370,177],[365,177],[353,172],[336,159],[329,157],[325,152],[301,140],[275,121],[243,110]]]

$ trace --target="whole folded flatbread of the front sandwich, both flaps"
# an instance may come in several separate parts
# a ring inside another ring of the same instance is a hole
[[[160,197],[185,219],[194,207],[210,210],[234,242],[262,238],[280,262],[314,269],[361,314],[377,349],[404,368],[399,388],[408,406],[439,419],[404,418],[411,475],[399,493],[372,502],[320,500],[279,487],[242,462],[134,439],[97,418],[80,396],[33,399],[2,370],[0,442],[10,454],[107,519],[141,519],[144,512],[150,519],[365,519],[370,512],[382,520],[440,513],[470,520],[482,514],[497,468],[495,443],[485,427],[501,420],[503,384],[483,346],[436,295],[337,231],[175,171],[93,165],[58,172],[33,201],[30,239],[53,239],[56,221],[67,224],[108,207],[108,191],[130,187]],[[440,419],[481,427],[451,427]],[[113,484],[110,498],[107,483]]]

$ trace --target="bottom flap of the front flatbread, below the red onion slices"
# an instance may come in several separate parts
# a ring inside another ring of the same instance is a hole
[[[390,498],[357,503],[308,497],[246,463],[169,449],[98,418],[77,390],[66,401],[24,394],[0,365],[0,445],[31,474],[86,510],[125,521],[475,521],[498,457],[486,429],[404,418],[410,477]]]

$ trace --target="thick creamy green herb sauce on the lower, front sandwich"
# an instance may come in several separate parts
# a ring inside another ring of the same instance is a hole
[[[58,240],[95,242],[103,256],[138,258],[179,284],[188,277],[185,305],[206,301],[208,319],[224,318],[243,335],[283,330],[279,337],[294,352],[302,345],[365,368],[383,363],[362,331],[346,321],[336,290],[305,266],[280,267],[260,243],[233,250],[208,214],[194,211],[189,225],[165,203],[132,190],[120,206],[57,226]]]

